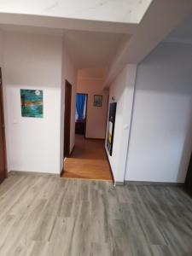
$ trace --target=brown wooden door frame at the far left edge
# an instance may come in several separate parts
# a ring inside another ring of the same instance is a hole
[[[7,149],[6,149],[6,138],[5,138],[5,125],[4,125],[4,108],[3,108],[3,79],[2,79],[2,68],[0,67],[0,114],[2,115],[2,132],[3,132],[3,162],[4,162],[4,177],[0,177],[0,183],[8,177],[8,166],[7,166]]]

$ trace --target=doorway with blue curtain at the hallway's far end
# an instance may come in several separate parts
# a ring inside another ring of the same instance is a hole
[[[75,134],[86,134],[88,94],[76,94]]]

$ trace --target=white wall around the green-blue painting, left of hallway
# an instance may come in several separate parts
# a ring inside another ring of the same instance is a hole
[[[9,170],[60,173],[62,38],[4,32]],[[44,90],[44,118],[22,118],[20,89]]]

